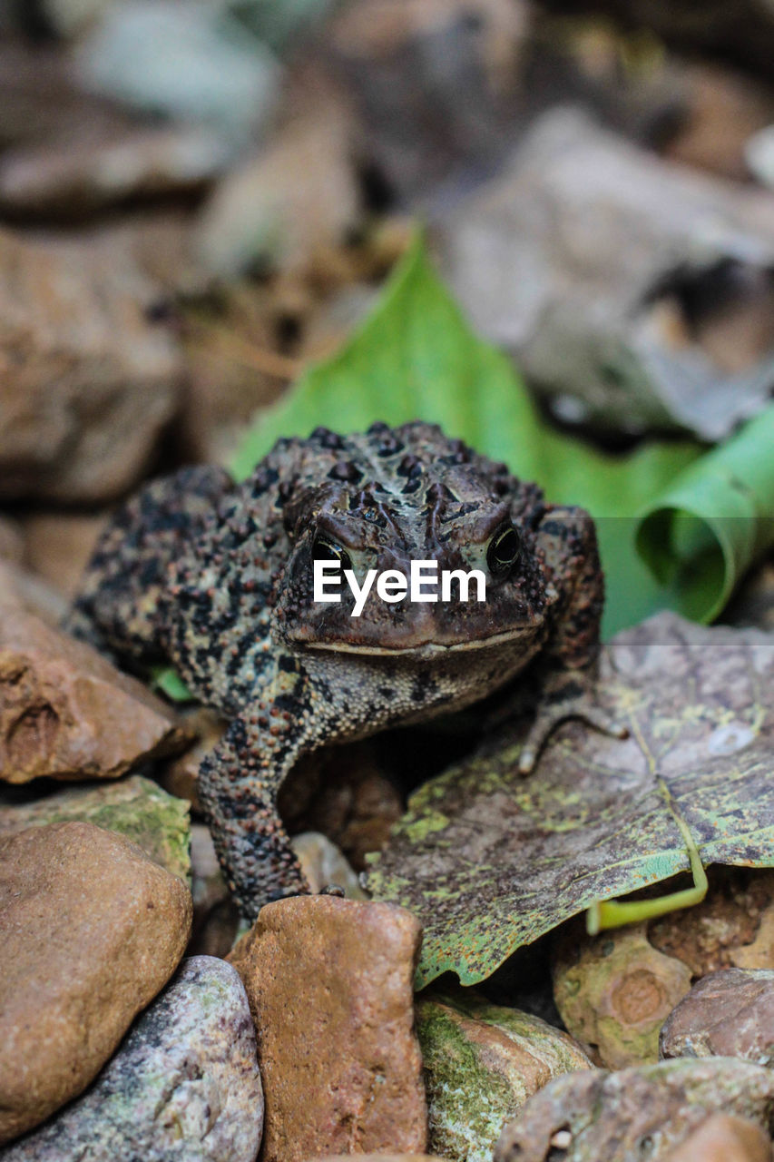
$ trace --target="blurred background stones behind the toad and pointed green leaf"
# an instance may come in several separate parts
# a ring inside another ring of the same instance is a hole
[[[772,59],[771,0],[0,0],[0,555],[53,616],[417,221],[558,429],[725,439],[774,383]]]

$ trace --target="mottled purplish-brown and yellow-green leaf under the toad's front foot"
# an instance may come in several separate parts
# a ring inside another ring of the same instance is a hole
[[[601,701],[629,739],[568,723],[524,779],[515,729],[420,788],[367,884],[424,925],[417,987],[481,981],[571,916],[689,869],[686,829],[704,866],[774,865],[773,688],[771,634],[664,612],[603,652]]]

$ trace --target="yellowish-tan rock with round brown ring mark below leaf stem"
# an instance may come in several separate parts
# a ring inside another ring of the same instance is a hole
[[[653,948],[645,924],[587,937],[571,923],[552,973],[567,1030],[610,1069],[658,1061],[661,1025],[690,989],[690,969]]]

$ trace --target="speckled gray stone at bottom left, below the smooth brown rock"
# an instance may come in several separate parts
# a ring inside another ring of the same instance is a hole
[[[93,1085],[2,1162],[255,1162],[256,1034],[235,969],[184,961]]]

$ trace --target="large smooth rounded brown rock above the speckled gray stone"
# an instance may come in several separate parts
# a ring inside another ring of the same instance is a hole
[[[0,839],[0,1142],[92,1081],[177,967],[191,894],[88,823]]]

